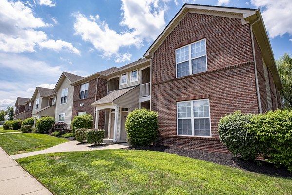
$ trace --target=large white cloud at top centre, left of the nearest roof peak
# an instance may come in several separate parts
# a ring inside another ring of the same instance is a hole
[[[102,52],[103,58],[115,58],[115,61],[130,60],[130,53],[120,53],[120,48],[135,46],[140,48],[144,41],[153,41],[164,29],[164,12],[170,0],[122,0],[121,32],[110,29],[99,15],[86,17],[74,13],[76,35],[92,43]],[[155,22],[153,22],[155,21]]]

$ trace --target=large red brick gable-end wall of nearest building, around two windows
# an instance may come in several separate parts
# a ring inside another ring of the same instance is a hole
[[[206,38],[208,71],[176,78],[175,49]],[[240,19],[188,13],[154,53],[152,110],[157,144],[226,151],[217,124],[226,113],[258,113],[249,25]],[[177,136],[176,102],[209,98],[212,138]]]

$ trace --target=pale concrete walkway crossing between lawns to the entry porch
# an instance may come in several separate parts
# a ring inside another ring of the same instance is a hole
[[[122,149],[129,147],[128,143],[120,143],[120,144],[104,144],[102,146],[92,146],[92,144],[80,144],[78,141],[69,141],[66,143],[62,143],[51,148],[47,148],[45,150],[28,152],[22,154],[11,155],[12,159],[20,159],[23,157],[34,156],[38,154],[47,154],[47,153],[55,153],[55,152],[79,152],[79,151],[91,151],[91,150],[107,150],[107,149]]]

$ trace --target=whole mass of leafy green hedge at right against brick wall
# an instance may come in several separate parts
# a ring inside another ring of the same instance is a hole
[[[265,114],[227,115],[219,121],[221,141],[235,156],[255,160],[262,155],[276,166],[292,173],[292,111],[276,110]]]

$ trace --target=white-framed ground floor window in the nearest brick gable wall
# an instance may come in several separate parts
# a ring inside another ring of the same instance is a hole
[[[177,102],[178,135],[211,136],[209,99]]]

